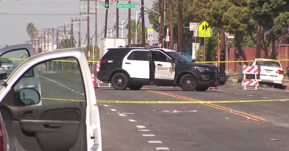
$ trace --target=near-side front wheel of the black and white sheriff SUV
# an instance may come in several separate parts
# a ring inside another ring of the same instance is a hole
[[[184,91],[194,91],[198,87],[198,82],[191,74],[185,74],[179,79],[179,85]]]

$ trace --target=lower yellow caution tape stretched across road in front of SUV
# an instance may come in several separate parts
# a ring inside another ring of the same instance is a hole
[[[59,98],[42,98],[43,100],[60,100],[60,101],[85,101]],[[289,101],[289,99],[275,100],[235,100],[235,101],[129,101],[129,100],[96,100],[98,103],[133,103],[133,104],[204,104],[204,103],[245,103],[245,102],[269,102],[269,101]]]

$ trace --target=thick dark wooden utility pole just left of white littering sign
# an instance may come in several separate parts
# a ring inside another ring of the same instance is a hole
[[[183,52],[183,0],[178,0],[178,43],[177,51]]]

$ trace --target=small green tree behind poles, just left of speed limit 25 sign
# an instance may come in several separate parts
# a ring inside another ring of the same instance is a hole
[[[130,25],[131,25],[131,39],[132,39],[132,43],[135,44],[135,32],[137,29],[137,43],[141,43],[142,41],[142,31],[141,31],[141,21],[139,21],[137,23],[137,28],[136,28],[136,22],[135,19],[132,19],[130,21]],[[126,29],[128,29],[128,25],[125,26]],[[128,35],[126,36],[128,38]],[[146,40],[148,39],[148,28],[145,27],[145,37]]]

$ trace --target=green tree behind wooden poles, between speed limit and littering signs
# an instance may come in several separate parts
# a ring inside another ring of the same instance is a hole
[[[189,6],[191,6],[191,0],[183,0],[183,26],[189,26],[190,22],[193,20],[193,17],[188,13]],[[154,7],[153,10],[156,12],[159,12],[158,7],[158,1],[153,2]],[[178,39],[178,4],[176,1],[174,1],[173,4],[173,18],[170,18],[170,1],[166,2],[166,19],[165,23],[168,25],[168,28],[170,28],[170,20],[173,19],[173,34],[170,33],[170,36],[173,35],[174,41]],[[159,15],[155,12],[150,11],[148,13],[148,19],[150,20],[150,24],[152,24],[152,28],[159,32]],[[164,29],[166,30],[166,29]],[[183,41],[184,42],[191,42],[192,39],[192,33],[189,31],[189,28],[183,28]]]

